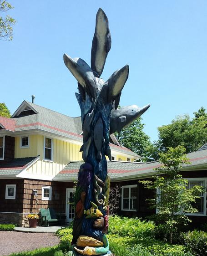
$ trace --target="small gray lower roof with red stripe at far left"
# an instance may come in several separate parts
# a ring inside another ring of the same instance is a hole
[[[38,157],[15,158],[10,162],[0,162],[0,177],[17,175]]]

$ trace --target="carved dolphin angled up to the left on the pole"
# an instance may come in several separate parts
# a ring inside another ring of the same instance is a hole
[[[87,92],[87,94],[96,101],[96,78],[94,77],[91,67],[81,58],[72,59],[67,54],[64,54],[63,59],[66,67],[78,81],[79,91],[83,98],[85,99],[84,92]]]

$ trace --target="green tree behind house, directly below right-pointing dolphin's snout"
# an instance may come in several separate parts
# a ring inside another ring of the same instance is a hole
[[[137,118],[133,123],[116,133],[118,141],[126,148],[131,149],[136,154],[144,157],[143,161],[148,159],[147,147],[151,146],[150,137],[144,133],[144,123],[141,118]]]

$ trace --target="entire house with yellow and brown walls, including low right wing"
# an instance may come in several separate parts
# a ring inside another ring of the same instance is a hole
[[[0,223],[26,226],[26,215],[52,207],[73,219],[74,181],[83,163],[81,118],[71,118],[34,103],[22,102],[11,118],[0,117]],[[151,191],[140,179],[149,179],[160,165],[134,162],[141,157],[121,146],[111,135],[112,162],[108,161],[111,186],[121,186],[119,214],[145,217],[152,213],[146,199]],[[207,143],[187,154],[191,165],[183,165],[182,176],[207,187]],[[194,223],[207,220],[206,193],[197,200]],[[69,202],[69,203],[68,203]]]

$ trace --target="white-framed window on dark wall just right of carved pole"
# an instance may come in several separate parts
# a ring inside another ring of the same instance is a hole
[[[137,185],[121,187],[121,210],[136,211]]]

